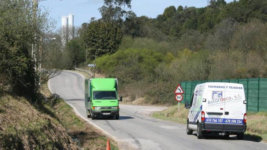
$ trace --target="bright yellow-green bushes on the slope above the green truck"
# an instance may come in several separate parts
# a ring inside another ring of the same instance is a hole
[[[119,50],[113,55],[96,59],[100,72],[130,83],[154,74],[154,68],[163,61],[163,55],[148,49]]]

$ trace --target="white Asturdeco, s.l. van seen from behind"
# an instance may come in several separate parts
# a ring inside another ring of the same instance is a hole
[[[197,85],[189,109],[187,134],[237,135],[242,140],[246,131],[246,99],[242,84],[207,82]]]

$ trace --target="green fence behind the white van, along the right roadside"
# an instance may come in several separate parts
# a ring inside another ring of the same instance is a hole
[[[247,100],[247,111],[267,111],[267,78],[226,79],[226,80],[203,80],[181,82],[184,89],[184,101],[191,100],[196,85],[205,82],[229,82],[244,85]]]

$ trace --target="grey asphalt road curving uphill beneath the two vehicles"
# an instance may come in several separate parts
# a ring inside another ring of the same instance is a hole
[[[49,80],[49,88],[86,118],[84,77],[81,74],[63,71],[60,75]],[[120,120],[108,118],[86,119],[117,138],[120,149],[267,149],[267,144],[253,142],[250,139],[236,140],[235,136],[229,139],[222,136],[208,136],[205,139],[197,139],[196,132],[193,132],[194,135],[186,134],[186,125],[151,118],[147,115],[164,109],[164,107],[120,104]]]

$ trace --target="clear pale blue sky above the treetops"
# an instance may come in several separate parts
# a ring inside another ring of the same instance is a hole
[[[233,0],[225,0],[227,3]],[[137,16],[145,15],[150,18],[156,18],[157,15],[163,13],[168,6],[174,5],[176,8],[179,5],[194,6],[197,8],[207,6],[208,0],[132,0],[132,10]],[[45,0],[39,2],[39,7],[47,8],[50,17],[57,21],[57,28],[61,26],[61,16],[74,14],[74,26],[80,26],[84,22],[89,22],[90,18],[101,18],[98,11],[103,5],[103,0]]]

